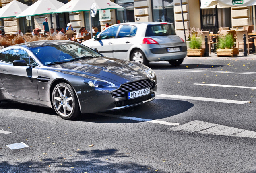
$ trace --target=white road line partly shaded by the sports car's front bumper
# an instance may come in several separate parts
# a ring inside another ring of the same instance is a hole
[[[142,119],[142,118],[136,118],[136,117],[126,117],[126,116],[121,116],[121,115],[112,115],[112,114],[105,114],[105,113],[99,113],[99,115],[107,116],[107,117],[115,117],[115,118],[120,118],[120,119],[129,119],[129,120],[134,120],[134,121],[157,123],[157,124],[163,124],[163,125],[172,125],[172,126],[179,125],[179,123],[171,123],[171,122],[167,122],[167,121],[158,121],[158,120],[152,120],[152,119]]]

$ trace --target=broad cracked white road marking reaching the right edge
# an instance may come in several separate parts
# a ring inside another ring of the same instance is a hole
[[[221,135],[221,136],[233,136],[233,137],[248,137],[256,138],[256,132],[248,131],[244,129],[238,129],[235,127],[229,127],[224,125],[218,125],[214,123],[208,123],[204,121],[191,121],[183,125],[169,128],[170,131],[180,131],[186,133],[200,133],[210,135]]]

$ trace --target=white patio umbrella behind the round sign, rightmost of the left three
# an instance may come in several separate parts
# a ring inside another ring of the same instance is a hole
[[[97,10],[124,8],[109,0],[71,0],[54,13],[90,11],[93,3],[96,3]]]

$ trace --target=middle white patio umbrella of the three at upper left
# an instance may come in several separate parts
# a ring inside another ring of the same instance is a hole
[[[38,0],[21,14],[17,15],[16,18],[51,14],[63,5],[64,3],[57,0]]]

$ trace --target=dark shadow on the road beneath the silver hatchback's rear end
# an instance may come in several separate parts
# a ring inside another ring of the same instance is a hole
[[[169,63],[149,63],[148,66],[153,70],[183,70],[183,69],[220,68],[220,67],[224,67],[225,65],[180,64],[179,66],[171,66]]]

